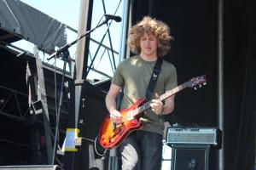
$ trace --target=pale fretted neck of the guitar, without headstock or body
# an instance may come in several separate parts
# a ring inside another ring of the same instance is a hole
[[[166,92],[166,94],[160,95],[160,100],[163,101],[169,97],[171,97],[173,94],[177,94],[177,92],[183,90],[186,88],[185,83],[177,86],[176,88],[172,88],[172,90]],[[137,107],[136,110],[133,111],[132,115],[137,116],[138,114],[142,113],[143,111],[146,111],[150,108],[151,101],[146,102],[145,104]]]

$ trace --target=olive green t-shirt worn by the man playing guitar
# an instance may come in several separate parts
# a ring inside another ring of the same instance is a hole
[[[124,97],[121,108],[127,109],[137,99],[145,98],[148,82],[150,81],[156,61],[145,61],[139,56],[134,56],[122,61],[115,71],[112,83],[124,88]],[[164,94],[167,90],[177,87],[177,72],[174,65],[163,60],[160,75],[155,83],[154,93]],[[154,95],[152,96],[152,99]],[[157,116],[148,109],[141,118],[144,131],[163,134],[163,116]]]

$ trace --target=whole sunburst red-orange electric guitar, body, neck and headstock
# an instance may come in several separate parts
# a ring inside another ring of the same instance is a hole
[[[205,75],[192,78],[188,82],[184,82],[168,91],[166,94],[160,95],[159,99],[163,101],[183,88],[196,88],[197,85],[201,87],[201,84],[206,84],[206,82]],[[113,123],[109,116],[106,116],[99,133],[99,141],[102,147],[113,149],[121,144],[132,131],[142,128],[143,124],[140,121],[140,117],[143,116],[144,111],[150,108],[150,103],[151,101],[147,99],[137,99],[130,108],[119,111],[123,116],[123,122],[121,124]]]

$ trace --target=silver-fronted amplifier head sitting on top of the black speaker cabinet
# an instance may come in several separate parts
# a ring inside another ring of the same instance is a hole
[[[215,127],[168,127],[166,144],[207,144],[220,148],[221,136]]]

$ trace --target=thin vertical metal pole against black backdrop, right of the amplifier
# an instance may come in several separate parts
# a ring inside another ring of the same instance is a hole
[[[218,0],[218,127],[222,131],[218,170],[224,170],[224,0]]]

